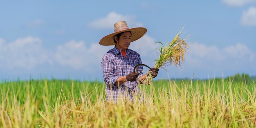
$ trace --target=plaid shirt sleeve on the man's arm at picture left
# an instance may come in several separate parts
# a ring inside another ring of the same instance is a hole
[[[114,86],[117,81],[117,76],[114,76],[114,63],[109,54],[105,54],[101,60],[104,83],[108,86]]]

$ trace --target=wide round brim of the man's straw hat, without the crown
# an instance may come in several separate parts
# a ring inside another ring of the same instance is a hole
[[[125,31],[131,31],[131,33],[132,33],[131,42],[133,42],[135,40],[138,40],[142,36],[144,36],[144,34],[146,34],[146,32],[147,32],[147,29],[144,28],[144,27],[135,27],[135,28],[131,28],[131,29],[125,29],[125,30],[122,30],[122,31],[117,31],[117,32],[114,32],[114,33],[109,34],[107,36],[104,36],[99,41],[99,44],[104,45],[104,46],[115,45],[113,37],[115,35],[121,33],[121,32],[125,32]]]

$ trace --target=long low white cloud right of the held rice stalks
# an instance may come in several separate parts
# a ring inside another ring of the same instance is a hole
[[[237,43],[225,48],[206,45],[190,45],[186,66],[194,70],[220,70],[248,66],[256,61],[255,53],[246,45]],[[236,70],[236,69],[235,69]]]

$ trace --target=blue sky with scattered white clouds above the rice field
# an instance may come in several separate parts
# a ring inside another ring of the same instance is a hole
[[[167,44],[184,27],[184,63],[157,79],[256,76],[256,0],[22,0],[0,1],[0,79],[102,81],[101,58],[114,46],[99,40],[121,20],[148,29],[129,48],[150,67],[155,42]]]

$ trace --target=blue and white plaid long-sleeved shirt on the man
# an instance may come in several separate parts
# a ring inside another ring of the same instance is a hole
[[[106,87],[106,100],[117,101],[119,98],[129,98],[133,101],[134,94],[140,95],[140,90],[137,86],[137,81],[126,81],[121,85],[115,85],[118,77],[126,76],[133,72],[133,68],[137,64],[141,64],[140,55],[131,50],[126,50],[126,58],[121,54],[119,49],[115,46],[110,49],[101,60],[101,67],[103,72],[104,83]],[[139,76],[142,76],[143,67],[138,66],[136,71]]]

